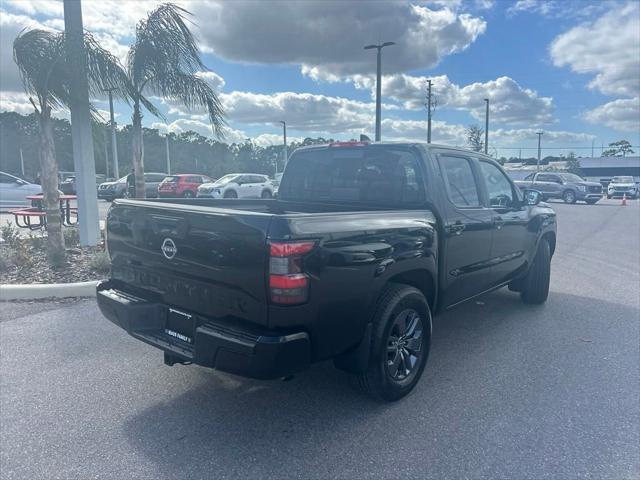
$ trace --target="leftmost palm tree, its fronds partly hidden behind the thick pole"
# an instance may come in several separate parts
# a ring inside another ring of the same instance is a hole
[[[86,33],[84,41],[90,93],[100,94],[105,88],[117,88],[123,93],[128,91],[126,74],[116,57],[102,49],[91,34]],[[47,250],[50,262],[61,265],[66,255],[51,112],[68,107],[70,102],[71,69],[67,64],[65,34],[40,29],[23,30],[13,42],[13,59],[38,119]]]

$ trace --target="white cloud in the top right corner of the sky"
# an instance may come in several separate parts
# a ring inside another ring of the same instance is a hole
[[[553,63],[595,74],[589,87],[606,95],[640,93],[640,3],[630,2],[556,37]]]

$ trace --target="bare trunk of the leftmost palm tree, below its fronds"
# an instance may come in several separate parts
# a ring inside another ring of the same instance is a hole
[[[66,261],[62,218],[60,212],[60,194],[58,192],[58,164],[53,143],[51,107],[45,106],[38,115],[40,126],[40,184],[42,185],[42,205],[47,214],[47,254],[54,266]]]

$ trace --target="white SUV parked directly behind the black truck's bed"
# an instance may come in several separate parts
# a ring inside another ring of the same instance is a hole
[[[271,198],[273,185],[266,175],[231,173],[213,183],[198,188],[198,197],[208,198]]]

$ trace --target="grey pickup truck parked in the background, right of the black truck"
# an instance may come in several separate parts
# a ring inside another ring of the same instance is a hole
[[[602,185],[589,182],[574,173],[536,172],[527,175],[524,180],[516,180],[521,189],[534,189],[542,193],[542,197],[558,198],[565,203],[576,203],[580,200],[593,205],[603,196]]]

